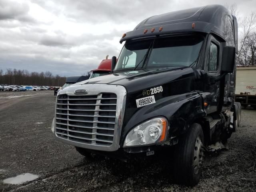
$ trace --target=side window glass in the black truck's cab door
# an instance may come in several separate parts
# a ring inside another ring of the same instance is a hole
[[[218,57],[219,57],[219,48],[216,44],[211,42],[210,50],[207,55],[208,72],[218,71],[218,67],[219,67]]]

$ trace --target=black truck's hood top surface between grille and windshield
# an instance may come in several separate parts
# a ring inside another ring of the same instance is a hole
[[[114,72],[105,76],[88,79],[73,85],[82,84],[114,84],[122,85],[127,92],[135,92],[144,88],[164,84],[174,80],[194,76],[192,68],[163,68],[163,69],[144,69],[123,72]],[[73,86],[72,85],[72,86]]]

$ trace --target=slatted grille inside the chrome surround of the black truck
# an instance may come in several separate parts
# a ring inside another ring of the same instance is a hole
[[[83,144],[111,146],[116,122],[117,96],[60,94],[56,100],[56,136]]]

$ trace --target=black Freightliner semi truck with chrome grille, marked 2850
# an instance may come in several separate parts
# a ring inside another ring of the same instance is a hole
[[[174,179],[194,186],[204,152],[225,147],[240,124],[236,17],[220,5],[170,12],[143,20],[124,41],[109,75],[58,92],[52,131],[85,156],[164,149]]]

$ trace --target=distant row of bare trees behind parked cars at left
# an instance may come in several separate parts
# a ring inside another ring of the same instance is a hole
[[[28,72],[8,68],[6,72],[0,69],[0,84],[8,85],[38,85],[38,86],[63,86],[66,77],[53,75],[50,71]]]

